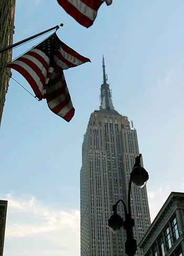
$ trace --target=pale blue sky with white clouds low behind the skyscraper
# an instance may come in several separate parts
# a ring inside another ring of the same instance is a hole
[[[4,256],[80,255],[81,145],[100,105],[103,54],[115,110],[137,130],[151,221],[171,191],[184,192],[183,12],[182,0],[114,0],[85,28],[56,0],[16,0],[14,43],[63,23],[60,40],[91,63],[64,71],[76,110],[69,123],[9,83],[0,129]],[[15,48],[13,58],[48,35]]]

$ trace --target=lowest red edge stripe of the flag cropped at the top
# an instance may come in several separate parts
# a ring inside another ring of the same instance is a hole
[[[65,12],[73,17],[80,25],[83,25],[84,27],[93,25],[94,21],[91,21],[91,19],[80,13],[78,9],[71,5],[67,0],[57,0],[57,2],[64,8]]]

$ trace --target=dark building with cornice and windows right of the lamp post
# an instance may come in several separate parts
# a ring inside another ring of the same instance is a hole
[[[139,247],[146,256],[184,255],[184,193],[171,192]]]

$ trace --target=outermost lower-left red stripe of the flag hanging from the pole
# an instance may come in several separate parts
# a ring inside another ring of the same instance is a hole
[[[35,82],[35,80],[33,79],[33,77],[23,67],[21,67],[17,64],[9,64],[7,66],[13,68],[14,70],[16,70],[17,72],[19,72],[21,75],[23,75],[25,77],[27,82],[32,87],[36,96],[39,96],[40,99],[46,98],[46,94],[42,95],[42,93],[39,91],[38,85]]]

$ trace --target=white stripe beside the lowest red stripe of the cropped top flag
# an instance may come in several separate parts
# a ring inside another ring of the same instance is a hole
[[[68,0],[68,2],[75,6],[80,13],[91,19],[91,21],[95,21],[97,11],[91,9],[88,5],[84,4],[80,0]]]

